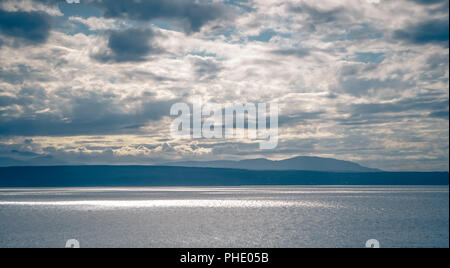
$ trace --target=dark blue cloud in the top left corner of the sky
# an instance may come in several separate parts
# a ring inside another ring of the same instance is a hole
[[[8,12],[0,9],[0,33],[14,38],[20,44],[43,44],[47,41],[50,30],[51,19],[46,13]]]

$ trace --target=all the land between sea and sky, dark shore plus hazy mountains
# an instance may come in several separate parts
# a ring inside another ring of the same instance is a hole
[[[177,162],[160,166],[64,166],[49,157],[0,158],[0,187],[448,185],[448,172],[383,172],[319,157]],[[25,166],[26,165],[26,166]]]

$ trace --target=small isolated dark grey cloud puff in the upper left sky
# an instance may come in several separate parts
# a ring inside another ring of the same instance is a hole
[[[126,29],[111,31],[108,37],[109,51],[93,55],[100,62],[141,62],[147,56],[161,54],[155,38],[159,34],[152,29]]]

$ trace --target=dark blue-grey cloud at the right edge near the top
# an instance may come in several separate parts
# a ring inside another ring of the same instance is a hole
[[[449,19],[433,19],[410,24],[394,32],[396,39],[417,45],[441,44],[448,47]]]

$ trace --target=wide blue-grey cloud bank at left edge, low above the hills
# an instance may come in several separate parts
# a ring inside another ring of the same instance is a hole
[[[24,113],[1,117],[0,135],[74,136],[137,134],[140,127],[168,116],[171,105],[178,100],[158,101],[142,96],[139,101],[129,103],[112,93],[85,92],[80,96],[61,89],[55,95],[40,98],[20,93],[14,101],[3,102],[19,103]],[[125,103],[134,108],[124,110]],[[43,108],[51,111],[36,113]]]

